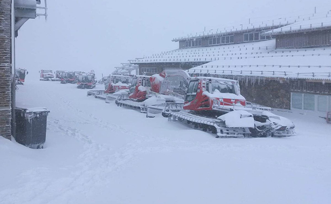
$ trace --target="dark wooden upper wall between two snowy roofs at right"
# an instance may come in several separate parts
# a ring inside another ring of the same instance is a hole
[[[276,48],[310,48],[331,46],[331,30],[276,36]]]

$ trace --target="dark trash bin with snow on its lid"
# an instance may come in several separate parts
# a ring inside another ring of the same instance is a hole
[[[32,149],[43,149],[46,141],[46,108],[15,108],[15,140]]]

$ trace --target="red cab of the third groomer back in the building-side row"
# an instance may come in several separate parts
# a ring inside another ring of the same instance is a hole
[[[105,83],[105,93],[112,94],[119,90],[129,90],[132,77],[123,75],[110,75]]]

